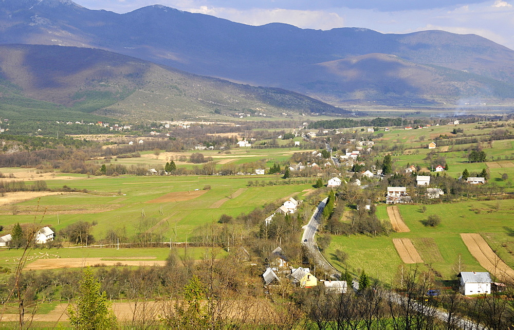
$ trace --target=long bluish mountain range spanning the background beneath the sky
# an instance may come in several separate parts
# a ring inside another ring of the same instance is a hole
[[[339,105],[514,98],[514,51],[473,34],[249,26],[160,5],[117,14],[69,0],[0,0],[0,43],[102,48]]]

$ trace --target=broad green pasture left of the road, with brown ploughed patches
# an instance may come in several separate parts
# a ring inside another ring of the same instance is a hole
[[[262,177],[262,178],[261,178]],[[16,204],[18,214],[3,212],[0,224],[9,228],[17,222],[51,225],[56,230],[78,222],[97,225],[92,234],[102,239],[108,230],[122,231],[128,236],[136,232],[162,233],[174,242],[185,242],[198,227],[217,222],[219,216],[248,213],[266,203],[312,188],[311,184],[247,187],[252,180],[276,180],[277,176],[144,176],[91,177],[80,180],[48,180],[49,188],[63,185],[88,193],[63,193],[43,196]],[[279,181],[282,179],[279,179]],[[294,181],[293,181],[294,182]],[[189,200],[147,203],[171,192],[187,196],[189,191],[211,186],[199,197]],[[245,190],[232,198],[238,189]],[[219,207],[211,208],[225,199]],[[38,202],[39,200],[39,202]],[[39,203],[39,211],[38,210]]]

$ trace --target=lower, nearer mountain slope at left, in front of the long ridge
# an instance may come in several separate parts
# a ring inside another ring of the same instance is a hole
[[[292,91],[201,77],[101,49],[0,45],[0,103],[21,97],[115,118],[346,112]]]

